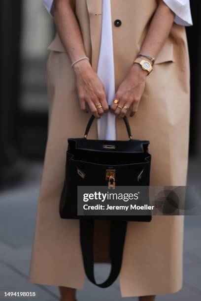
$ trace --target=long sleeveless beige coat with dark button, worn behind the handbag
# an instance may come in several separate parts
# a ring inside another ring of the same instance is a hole
[[[86,54],[97,70],[102,0],[75,0]],[[140,50],[155,0],[111,0],[115,85],[119,87]],[[80,110],[75,75],[56,35],[49,46],[47,85],[49,131],[37,209],[30,281],[81,289],[84,268],[79,221],[59,216],[67,138],[83,137],[91,116]],[[129,118],[134,139],[150,140],[151,185],[185,185],[189,143],[189,58],[185,29],[173,24],[154,71],[147,77],[137,114]],[[116,120],[117,139],[127,139]],[[97,139],[92,126],[89,139]],[[96,259],[107,261],[108,225],[97,223]],[[129,222],[120,272],[123,297],[167,294],[182,286],[182,216],[153,216],[150,223]],[[103,247],[104,246],[104,247]],[[105,275],[106,276],[106,275]]]

